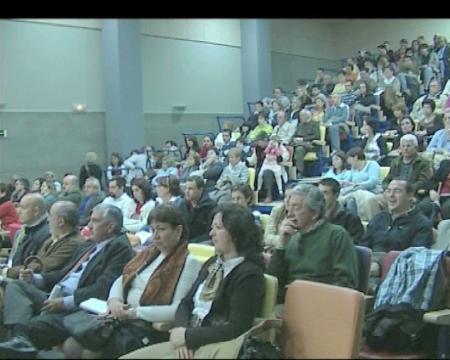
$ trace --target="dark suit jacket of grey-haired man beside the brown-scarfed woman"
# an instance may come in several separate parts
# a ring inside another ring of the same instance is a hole
[[[86,240],[79,246],[67,266],[60,270],[42,273],[44,290],[50,291],[94,245],[93,241]],[[133,249],[125,234],[112,239],[89,261],[83,271],[78,288],[73,294],[75,304],[79,305],[91,297],[106,300],[114,280],[122,274],[123,267],[132,257]]]

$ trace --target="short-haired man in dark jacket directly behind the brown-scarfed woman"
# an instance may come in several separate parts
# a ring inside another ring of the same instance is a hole
[[[201,176],[190,176],[185,185],[184,198],[178,204],[188,228],[188,242],[208,241],[212,210],[216,202],[209,198]]]

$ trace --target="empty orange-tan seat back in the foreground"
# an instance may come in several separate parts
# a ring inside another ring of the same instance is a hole
[[[363,316],[364,295],[357,290],[292,282],[283,313],[285,358],[356,358]]]

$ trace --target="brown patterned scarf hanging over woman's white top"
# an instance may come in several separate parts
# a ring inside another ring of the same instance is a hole
[[[150,245],[125,265],[122,280],[124,299],[128,296],[134,278],[151,264],[160,253],[156,245]],[[188,253],[187,243],[180,241],[148,279],[144,292],[139,299],[140,305],[168,305],[172,303]]]

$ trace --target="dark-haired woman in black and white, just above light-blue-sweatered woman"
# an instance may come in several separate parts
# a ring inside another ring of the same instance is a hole
[[[379,164],[383,162],[388,153],[386,141],[381,133],[378,133],[378,124],[370,117],[363,118],[361,131],[365,136],[362,139],[361,148],[367,160],[375,160]]]

